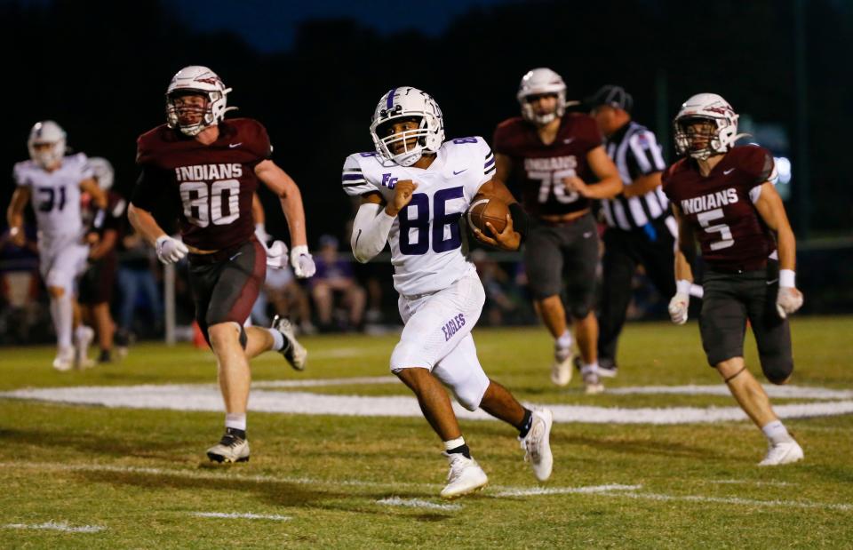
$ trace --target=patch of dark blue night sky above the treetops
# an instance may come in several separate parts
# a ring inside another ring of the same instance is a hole
[[[232,30],[261,52],[277,52],[291,47],[297,26],[305,20],[350,18],[383,34],[418,28],[436,36],[474,7],[513,3],[519,0],[323,0],[295,5],[270,0],[173,0],[169,5],[196,30]]]

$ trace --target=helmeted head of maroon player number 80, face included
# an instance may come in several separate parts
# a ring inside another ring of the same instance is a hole
[[[195,136],[208,126],[219,124],[227,111],[231,88],[211,69],[192,65],[172,77],[166,90],[166,124],[187,136]]]

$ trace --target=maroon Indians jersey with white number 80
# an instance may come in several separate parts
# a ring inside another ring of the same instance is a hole
[[[271,152],[267,129],[251,118],[219,123],[219,139],[211,145],[157,126],[137,139],[141,173],[131,202],[147,211],[177,202],[185,243],[202,250],[231,248],[254,233],[255,166]]]

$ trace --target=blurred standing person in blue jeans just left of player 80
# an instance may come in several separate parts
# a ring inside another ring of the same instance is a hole
[[[133,231],[122,239],[119,254],[118,288],[121,302],[118,314],[116,347],[119,355],[127,353],[127,347],[135,339],[133,314],[142,305],[151,316],[155,332],[163,329],[163,300],[154,274],[152,262],[154,249]]]

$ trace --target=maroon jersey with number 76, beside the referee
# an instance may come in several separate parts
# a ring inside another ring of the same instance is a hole
[[[602,142],[602,133],[591,116],[563,115],[550,145],[539,139],[536,126],[515,116],[498,124],[492,149],[512,159],[513,172],[506,183],[516,196],[521,188],[524,210],[537,216],[560,215],[589,208],[589,199],[567,189],[562,179],[578,176],[586,183],[596,181],[586,154]]]

